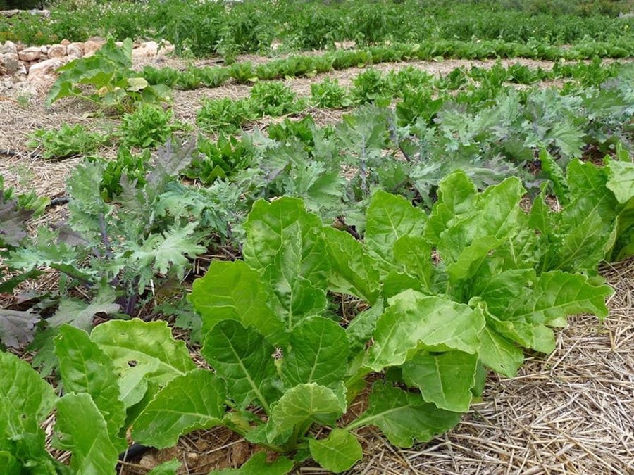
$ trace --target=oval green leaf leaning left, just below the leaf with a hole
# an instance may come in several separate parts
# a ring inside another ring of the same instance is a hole
[[[172,447],[186,433],[220,424],[225,398],[223,381],[206,369],[194,369],[154,396],[135,420],[132,436],[151,447]]]

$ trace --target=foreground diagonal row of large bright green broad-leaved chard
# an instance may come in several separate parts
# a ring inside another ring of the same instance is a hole
[[[61,398],[0,354],[0,460],[8,473],[111,474],[130,428],[138,443],[166,448],[224,425],[280,454],[236,473],[283,474],[307,457],[349,469],[363,426],[401,447],[428,441],[459,422],[487,369],[513,376],[523,348],[554,349],[566,316],[607,315],[612,291],[597,264],[631,253],[632,170],[625,160],[571,163],[560,211],[544,197],[523,210],[516,178],[478,192],[460,171],[430,214],[378,191],[363,241],[323,226],[297,198],[257,201],[244,260],[212,262],[190,296],[213,371],[197,368],[164,322],[116,320],[90,335],[61,327]],[[330,292],[364,310],[335,315]],[[343,423],[372,373],[366,411]],[[53,408],[53,443],[73,452],[70,467],[44,450],[39,424]],[[316,425],[328,430],[316,437]]]

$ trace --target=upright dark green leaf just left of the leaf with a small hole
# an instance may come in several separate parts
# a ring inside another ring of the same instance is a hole
[[[90,340],[85,331],[69,325],[59,329],[55,354],[64,391],[88,393],[106,420],[111,442],[118,450],[123,450],[125,441],[118,438],[118,432],[125,421],[125,407],[120,400],[118,375],[110,357]]]

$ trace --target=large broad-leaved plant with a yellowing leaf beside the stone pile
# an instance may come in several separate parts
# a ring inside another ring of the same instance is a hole
[[[88,58],[77,58],[59,68],[61,74],[46,97],[46,107],[64,97],[80,97],[107,108],[130,110],[138,101],[165,102],[166,84],[151,85],[132,69],[132,40],[116,46],[109,39]]]

